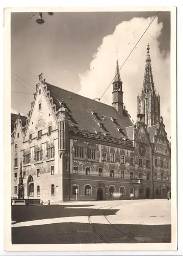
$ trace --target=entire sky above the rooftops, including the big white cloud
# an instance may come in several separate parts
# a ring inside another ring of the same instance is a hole
[[[34,15],[35,14],[35,15]],[[27,115],[38,75],[55,86],[99,98],[134,48],[154,12],[13,13],[11,17],[11,108]],[[34,16],[33,16],[34,15]],[[154,86],[161,97],[161,115],[170,131],[170,12],[160,12],[120,70],[123,102],[137,119],[147,44],[150,45]],[[112,84],[101,98],[111,105]],[[80,102],[79,102],[80,103]]]

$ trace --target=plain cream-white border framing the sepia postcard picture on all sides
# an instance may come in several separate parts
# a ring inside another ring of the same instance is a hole
[[[176,163],[176,8],[175,7],[63,7],[63,8],[7,8],[4,18],[4,108],[6,105],[6,114],[4,115],[4,184],[11,181],[11,56],[10,56],[10,15],[11,12],[47,12],[47,11],[171,11],[171,145],[172,145],[172,169],[177,169]],[[161,244],[44,244],[44,245],[12,245],[11,244],[11,189],[4,186],[4,249],[6,251],[144,251],[144,250],[176,250],[177,248],[177,173],[172,173],[172,200],[171,200],[171,221],[172,221],[172,242]],[[10,183],[9,183],[10,184]],[[5,190],[6,189],[6,190]],[[176,192],[175,192],[176,191]],[[34,248],[33,248],[34,247]]]

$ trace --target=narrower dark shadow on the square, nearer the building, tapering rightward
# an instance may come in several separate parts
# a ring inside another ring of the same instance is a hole
[[[87,207],[94,205],[80,205]],[[71,207],[71,209],[66,208]],[[12,220],[18,222],[54,219],[63,217],[89,216],[94,208],[72,208],[75,205],[34,205],[34,206],[12,206]],[[78,206],[79,207],[79,206]],[[106,209],[97,209],[93,212],[94,216],[103,216]],[[118,209],[110,209],[106,215],[115,215]]]

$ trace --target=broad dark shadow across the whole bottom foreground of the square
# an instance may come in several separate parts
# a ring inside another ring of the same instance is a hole
[[[108,243],[170,243],[171,225],[94,224]],[[133,236],[135,242],[128,236]],[[89,223],[54,223],[12,227],[12,244],[103,243]]]

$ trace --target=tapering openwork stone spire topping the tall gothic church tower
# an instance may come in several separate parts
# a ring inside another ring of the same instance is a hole
[[[154,90],[154,81],[152,76],[152,68],[151,68],[151,58],[149,53],[150,47],[147,45],[147,55],[145,59],[145,72],[144,72],[144,80],[143,80],[143,91],[148,93],[151,90]]]

